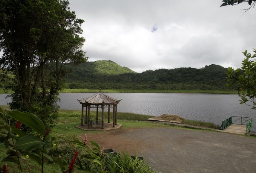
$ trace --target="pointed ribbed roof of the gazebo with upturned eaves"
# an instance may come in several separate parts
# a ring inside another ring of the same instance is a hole
[[[86,99],[78,100],[81,104],[88,103],[91,105],[115,105],[118,104],[121,100],[114,99],[106,94],[101,93],[101,89],[99,93],[94,94],[93,96],[87,97]]]

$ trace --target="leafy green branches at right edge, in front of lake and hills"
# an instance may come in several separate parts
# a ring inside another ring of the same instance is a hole
[[[237,90],[241,97],[240,104],[251,106],[256,109],[256,49],[254,55],[243,52],[245,59],[242,61],[242,67],[234,70],[229,67],[227,72],[227,86]]]

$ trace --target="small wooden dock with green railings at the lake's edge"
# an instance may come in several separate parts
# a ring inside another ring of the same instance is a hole
[[[232,116],[222,121],[220,132],[245,135],[250,131],[253,119],[249,117]]]

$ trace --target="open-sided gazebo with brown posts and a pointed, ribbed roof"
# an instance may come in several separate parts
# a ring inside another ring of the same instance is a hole
[[[87,124],[88,129],[90,129],[93,124],[101,124],[101,129],[104,129],[104,108],[108,108],[108,123],[110,123],[110,108],[113,108],[113,127],[115,127],[115,125],[117,124],[117,104],[121,100],[114,99],[106,94],[101,93],[101,89],[99,89],[99,93],[94,94],[93,96],[87,97],[86,99],[78,100],[79,103],[82,105],[81,126]],[[96,108],[96,121],[90,120],[91,108]],[[102,110],[101,121],[98,120],[99,108],[101,108]]]

